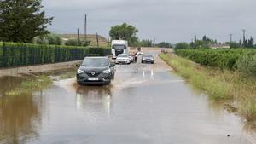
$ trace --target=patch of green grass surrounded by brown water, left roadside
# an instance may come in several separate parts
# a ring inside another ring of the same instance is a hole
[[[15,89],[11,89],[5,93],[9,96],[29,95],[40,89],[45,89],[52,84],[52,80],[48,76],[40,76],[39,78],[32,78],[26,80]]]

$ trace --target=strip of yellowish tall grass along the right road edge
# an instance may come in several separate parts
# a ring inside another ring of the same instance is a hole
[[[160,54],[178,75],[196,89],[201,89],[213,101],[229,101],[228,105],[247,121],[256,120],[256,79],[240,72],[200,66],[171,54]]]

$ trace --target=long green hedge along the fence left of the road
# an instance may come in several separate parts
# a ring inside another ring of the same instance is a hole
[[[85,48],[63,45],[40,45],[27,43],[1,43],[0,67],[49,64],[82,60],[84,56],[110,55],[108,48]]]

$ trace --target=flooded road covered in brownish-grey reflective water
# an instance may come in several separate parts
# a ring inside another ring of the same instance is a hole
[[[250,126],[196,93],[158,57],[154,65],[116,69],[110,86],[79,86],[69,78],[18,97],[4,90],[22,78],[2,78],[0,143],[250,143]]]

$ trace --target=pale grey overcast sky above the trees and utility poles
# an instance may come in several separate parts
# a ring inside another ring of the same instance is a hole
[[[238,41],[241,29],[256,38],[256,0],[43,0],[44,9],[54,16],[49,26],[56,33],[88,33],[108,36],[111,26],[127,22],[136,26],[138,37],[157,42],[190,42],[197,34],[224,42],[230,33]]]

